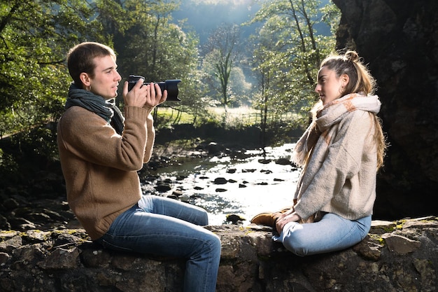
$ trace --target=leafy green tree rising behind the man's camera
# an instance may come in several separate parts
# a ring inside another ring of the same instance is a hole
[[[127,0],[115,4],[99,0],[97,6],[97,19],[113,36],[123,78],[136,74],[145,77],[146,82],[181,79],[178,88],[182,101],[162,106],[176,109],[178,116],[183,111],[195,116],[205,112],[202,109],[208,102],[197,79],[198,40],[194,34],[183,32],[183,22],[179,25],[171,22],[171,12],[178,9],[177,3]]]

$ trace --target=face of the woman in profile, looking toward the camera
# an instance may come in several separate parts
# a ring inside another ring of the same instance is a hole
[[[318,72],[318,85],[316,85],[315,92],[325,105],[341,97],[347,84],[346,74],[337,77],[334,70],[322,67]]]

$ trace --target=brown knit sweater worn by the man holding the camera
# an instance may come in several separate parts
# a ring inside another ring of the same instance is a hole
[[[98,239],[141,197],[137,171],[152,155],[152,109],[125,106],[125,130],[79,106],[59,120],[57,143],[67,201],[90,237]]]

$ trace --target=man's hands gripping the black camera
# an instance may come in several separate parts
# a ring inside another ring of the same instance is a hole
[[[128,92],[128,82],[123,86],[123,99],[127,106],[138,106],[154,108],[167,99],[167,90],[161,92],[160,85],[150,83],[143,85],[143,79],[137,81],[136,85]]]

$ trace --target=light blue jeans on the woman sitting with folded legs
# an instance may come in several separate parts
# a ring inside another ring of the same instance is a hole
[[[287,223],[276,242],[297,256],[339,251],[358,244],[371,228],[371,216],[358,220],[348,220],[337,214],[327,213],[315,223]]]

